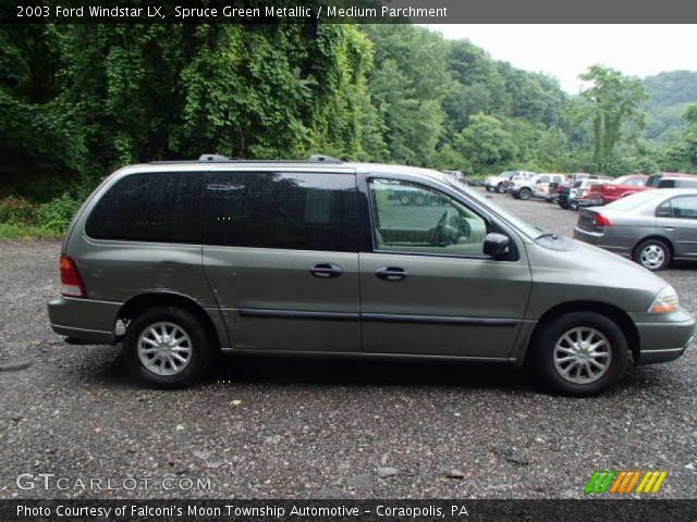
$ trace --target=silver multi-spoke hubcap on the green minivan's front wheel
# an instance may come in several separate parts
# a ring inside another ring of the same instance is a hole
[[[570,383],[588,384],[598,381],[607,373],[611,362],[610,341],[595,328],[572,328],[554,346],[554,368]]]

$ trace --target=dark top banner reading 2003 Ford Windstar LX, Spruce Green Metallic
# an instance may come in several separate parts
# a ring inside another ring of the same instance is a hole
[[[3,0],[0,23],[695,23],[685,0]],[[589,35],[590,37],[590,35]]]

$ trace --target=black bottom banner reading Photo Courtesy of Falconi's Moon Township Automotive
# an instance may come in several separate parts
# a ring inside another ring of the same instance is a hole
[[[697,500],[0,500],[2,521],[697,520]]]

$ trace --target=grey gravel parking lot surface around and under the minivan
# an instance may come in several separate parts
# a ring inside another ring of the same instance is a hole
[[[491,197],[551,232],[576,220]],[[0,241],[0,363],[32,360],[0,372],[0,498],[583,497],[598,469],[668,470],[659,496],[697,497],[694,351],[589,399],[503,366],[232,356],[204,385],[152,390],[119,349],[50,331],[59,249]],[[693,313],[695,270],[661,274]],[[54,476],[21,489],[23,473]]]

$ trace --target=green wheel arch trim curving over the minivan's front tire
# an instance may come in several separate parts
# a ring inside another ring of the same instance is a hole
[[[632,318],[629,318],[627,312],[622,310],[620,307],[602,301],[567,301],[555,304],[547,310],[537,321],[535,328],[533,328],[525,348],[524,359],[528,359],[530,352],[533,351],[530,350],[530,346],[533,346],[537,335],[540,334],[545,326],[550,324],[550,322],[554,321],[555,319],[572,312],[595,312],[604,315],[606,318],[613,321],[620,327],[620,330],[622,330],[622,333],[627,340],[627,346],[629,347],[629,351],[632,352],[634,360],[638,360],[640,351],[640,339],[639,331],[637,330],[636,324],[634,324],[634,321],[632,321]]]

